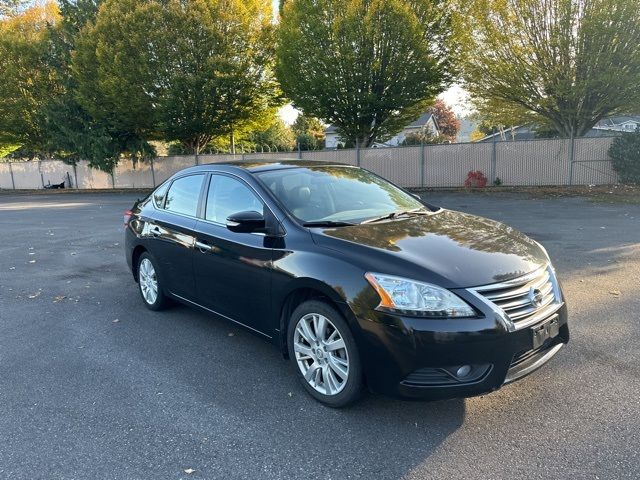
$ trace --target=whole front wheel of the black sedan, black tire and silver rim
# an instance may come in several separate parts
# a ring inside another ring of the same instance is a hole
[[[319,300],[300,304],[289,320],[287,346],[298,378],[313,398],[334,408],[360,398],[358,348],[346,320],[331,305]]]

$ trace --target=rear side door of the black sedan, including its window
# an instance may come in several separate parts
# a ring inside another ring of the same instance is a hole
[[[205,174],[192,174],[173,180],[165,197],[156,202],[152,218],[145,219],[142,231],[148,250],[160,264],[165,288],[191,300],[196,297],[194,229],[205,177]]]

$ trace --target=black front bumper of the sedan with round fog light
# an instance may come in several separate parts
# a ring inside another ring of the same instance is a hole
[[[565,304],[516,331],[485,313],[477,319],[425,320],[374,311],[358,319],[369,388],[433,400],[480,395],[534,372],[569,341]],[[532,329],[550,321],[553,336],[534,344]],[[465,375],[457,376],[459,371]]]

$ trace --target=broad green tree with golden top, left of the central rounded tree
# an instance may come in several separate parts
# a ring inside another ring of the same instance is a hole
[[[260,0],[107,0],[74,58],[91,115],[199,153],[278,101],[271,6]]]

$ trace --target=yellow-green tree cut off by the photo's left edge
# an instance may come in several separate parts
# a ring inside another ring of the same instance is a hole
[[[0,20],[0,145],[46,150],[42,111],[58,89],[47,63],[48,25],[58,17],[47,3]]]

